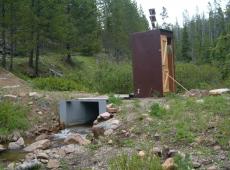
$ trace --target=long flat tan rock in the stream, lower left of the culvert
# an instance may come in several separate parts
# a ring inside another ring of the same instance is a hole
[[[24,148],[26,152],[33,152],[36,149],[47,149],[50,147],[51,142],[48,139],[40,140]]]

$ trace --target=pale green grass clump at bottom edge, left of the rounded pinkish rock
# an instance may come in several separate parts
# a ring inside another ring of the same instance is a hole
[[[146,156],[144,159],[137,155],[120,155],[110,160],[109,170],[162,170],[160,160],[155,156]]]

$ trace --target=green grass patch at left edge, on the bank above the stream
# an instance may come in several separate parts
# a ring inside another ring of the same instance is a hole
[[[29,122],[27,109],[8,101],[0,102],[0,135],[8,135],[14,130],[26,130]]]

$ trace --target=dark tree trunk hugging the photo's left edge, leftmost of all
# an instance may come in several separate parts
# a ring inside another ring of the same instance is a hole
[[[6,67],[5,5],[2,3],[2,67]]]

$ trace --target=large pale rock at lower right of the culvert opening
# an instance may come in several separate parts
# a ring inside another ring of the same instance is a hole
[[[120,126],[120,121],[115,118],[112,118],[107,121],[100,122],[97,125],[94,125],[92,127],[92,132],[94,136],[100,136],[100,135],[104,135],[105,131],[109,129],[115,130],[119,126]]]

